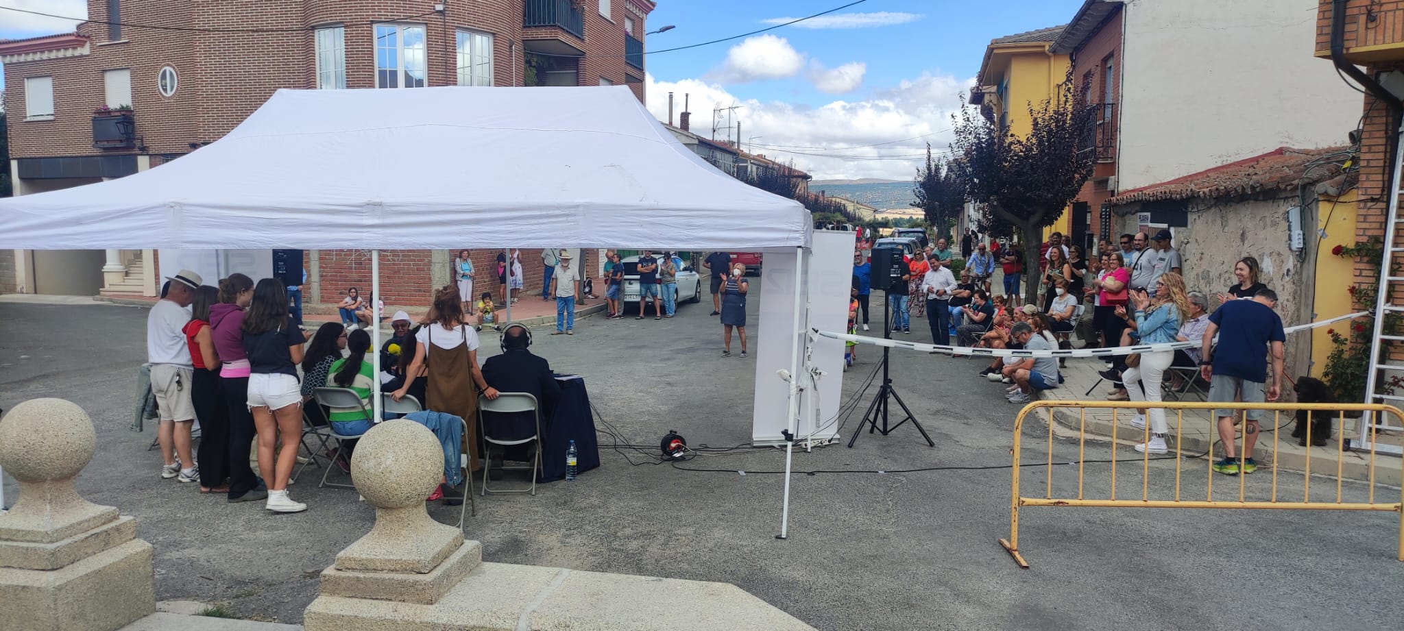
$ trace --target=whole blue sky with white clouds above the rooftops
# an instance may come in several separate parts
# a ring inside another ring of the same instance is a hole
[[[647,27],[677,28],[649,35],[647,49],[739,35],[845,3],[657,0]],[[739,105],[733,129],[739,121],[740,140],[755,153],[793,161],[817,178],[908,179],[925,142],[948,146],[958,95],[969,90],[990,39],[1064,24],[1081,4],[866,0],[762,35],[650,55],[649,109],[665,119],[667,93],[675,93],[677,112],[688,94],[692,130],[710,136],[712,108]],[[74,17],[87,10],[86,0],[0,0],[4,6]],[[65,29],[72,24],[0,10],[0,38]],[[876,143],[885,144],[869,146]]]

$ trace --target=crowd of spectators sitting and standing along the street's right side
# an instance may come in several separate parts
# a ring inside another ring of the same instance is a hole
[[[1077,243],[1064,243],[1054,231],[1039,244],[1039,259],[1025,261],[1022,244],[986,240],[974,231],[962,234],[959,273],[952,272],[952,252],[945,238],[935,247],[917,250],[896,264],[886,300],[893,311],[887,323],[893,334],[911,334],[911,318],[925,317],[935,345],[1009,349],[1073,348],[1071,335],[1091,311],[1090,334],[1082,348],[1118,348],[1146,344],[1200,342],[1200,348],[1118,353],[1099,374],[1112,384],[1111,401],[1163,401],[1163,386],[1182,388],[1198,377],[1209,384],[1210,401],[1273,401],[1280,394],[1282,318],[1273,311],[1278,296],[1262,282],[1254,257],[1244,257],[1231,271],[1233,285],[1214,297],[1191,290],[1182,276],[1184,259],[1172,245],[1174,236],[1161,229],[1122,234],[1118,244],[1101,240],[1088,255]],[[1075,241],[1068,238],[1067,241]],[[1032,252],[1029,254],[1032,257]],[[1002,294],[991,294],[995,269],[1002,276]],[[869,331],[869,296],[889,289],[887,271],[875,271],[866,254],[854,255],[849,330]],[[879,280],[876,275],[883,275]],[[1038,299],[1022,304],[1022,283],[1038,286]],[[1217,337],[1217,344],[1214,338]],[[1217,352],[1214,352],[1217,349]],[[856,359],[849,346],[847,360]],[[1266,369],[1269,359],[1271,374]],[[981,376],[1008,384],[1008,398],[1021,404],[1039,390],[1057,387],[1063,377],[1054,358],[1019,362],[995,359]],[[1175,370],[1172,370],[1175,369]],[[1224,474],[1252,473],[1257,439],[1257,411],[1248,411],[1244,453],[1236,456],[1236,418],[1217,411],[1224,459],[1214,470]],[[1143,408],[1130,423],[1146,429],[1150,439],[1136,449],[1167,453],[1168,425],[1164,408]]]

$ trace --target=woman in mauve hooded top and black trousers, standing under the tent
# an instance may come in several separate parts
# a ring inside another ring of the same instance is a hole
[[[229,502],[268,498],[264,485],[249,467],[254,440],[254,416],[249,412],[249,353],[243,345],[244,308],[254,299],[254,280],[230,273],[219,282],[219,304],[209,307],[209,325],[219,355],[219,393],[229,407]]]

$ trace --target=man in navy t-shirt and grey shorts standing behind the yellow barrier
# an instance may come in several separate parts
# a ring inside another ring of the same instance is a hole
[[[1210,356],[1216,334],[1219,346],[1214,348],[1212,360],[1199,362],[1199,370],[1209,380],[1210,401],[1234,401],[1234,397],[1241,397],[1243,402],[1264,402],[1262,387],[1268,383],[1268,377],[1272,377],[1272,386],[1268,387],[1266,401],[1278,400],[1282,344],[1287,337],[1282,331],[1282,318],[1272,310],[1276,304],[1278,294],[1271,289],[1262,289],[1252,300],[1230,300],[1209,316],[1209,328],[1205,330],[1200,342],[1200,356]],[[1266,374],[1264,369],[1269,348],[1272,374]],[[1262,409],[1245,412],[1241,461],[1234,456],[1237,422],[1234,411],[1216,409],[1214,416],[1219,418],[1219,439],[1224,446],[1224,459],[1214,463],[1214,471],[1227,475],[1257,471],[1258,463],[1252,460],[1252,446],[1258,442],[1258,419],[1262,416]]]

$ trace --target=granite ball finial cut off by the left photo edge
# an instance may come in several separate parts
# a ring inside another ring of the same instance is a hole
[[[62,398],[25,401],[0,421],[0,468],[21,482],[72,480],[95,447],[87,412]]]

